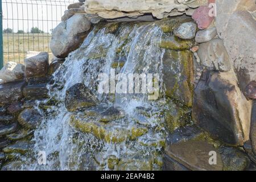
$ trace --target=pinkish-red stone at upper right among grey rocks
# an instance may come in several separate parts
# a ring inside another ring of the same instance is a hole
[[[195,20],[195,22],[197,23],[197,27],[200,30],[208,28],[212,23],[214,17],[209,16],[209,11],[211,9],[212,8],[208,6],[201,6],[193,13],[192,18]]]

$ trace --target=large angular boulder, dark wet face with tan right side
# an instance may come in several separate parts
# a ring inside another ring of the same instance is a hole
[[[213,138],[243,146],[249,139],[250,109],[232,72],[203,72],[193,96],[192,117]]]

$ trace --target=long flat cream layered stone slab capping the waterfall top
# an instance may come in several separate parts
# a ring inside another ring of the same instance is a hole
[[[184,14],[190,6],[195,8],[207,3],[205,0],[197,0],[195,3],[191,3],[191,1],[177,3],[174,0],[87,0],[85,1],[85,11],[88,14],[98,14],[105,19],[124,16],[134,18],[144,14],[152,14],[156,18],[162,19],[167,16]]]

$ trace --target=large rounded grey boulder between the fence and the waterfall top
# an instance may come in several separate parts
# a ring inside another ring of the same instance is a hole
[[[76,28],[74,28],[76,27]],[[59,58],[77,49],[90,30],[90,21],[84,14],[75,14],[65,22],[61,22],[52,32],[50,48],[53,55]]]

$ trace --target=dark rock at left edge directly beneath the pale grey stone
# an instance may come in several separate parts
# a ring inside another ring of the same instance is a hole
[[[8,82],[0,85],[0,105],[10,104],[20,100],[22,89],[26,85],[24,81]]]

